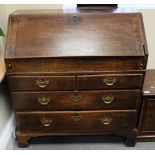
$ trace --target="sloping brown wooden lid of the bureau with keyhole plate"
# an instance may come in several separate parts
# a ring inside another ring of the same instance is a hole
[[[139,13],[12,14],[15,51],[7,46],[6,57],[144,56],[140,20]]]

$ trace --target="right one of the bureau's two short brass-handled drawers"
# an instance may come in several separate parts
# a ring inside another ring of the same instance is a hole
[[[82,75],[77,77],[77,89],[136,89],[141,88],[142,74]]]

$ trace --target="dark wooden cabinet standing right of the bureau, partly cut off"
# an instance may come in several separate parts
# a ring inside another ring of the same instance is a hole
[[[137,139],[155,141],[155,70],[147,70]]]

